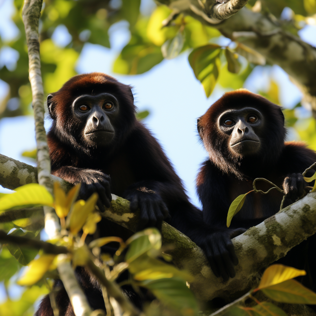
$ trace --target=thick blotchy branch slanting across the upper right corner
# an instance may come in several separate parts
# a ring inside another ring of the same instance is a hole
[[[273,15],[243,7],[247,1],[156,0],[174,12],[191,15],[216,27],[224,36],[259,52],[268,64],[279,65],[303,93],[302,104],[311,106],[316,118],[316,48],[293,35]],[[230,14],[230,12],[233,12]],[[238,11],[238,12],[237,12]],[[234,14],[236,13],[237,14]],[[228,18],[229,17],[229,18]],[[219,22],[219,20],[222,20]]]

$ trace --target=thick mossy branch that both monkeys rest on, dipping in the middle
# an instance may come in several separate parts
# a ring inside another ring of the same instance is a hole
[[[29,173],[34,172],[34,167],[20,164],[21,168],[28,168]],[[3,170],[8,172],[0,164],[0,173]],[[8,176],[10,175],[8,172]],[[15,177],[13,171],[12,176]],[[0,185],[3,185],[2,180],[3,178],[0,178]],[[69,184],[59,180],[62,187],[68,190]],[[135,232],[139,213],[131,212],[129,205],[129,201],[112,195],[111,207],[102,213],[102,216]],[[169,251],[173,256],[173,263],[179,268],[189,270],[194,277],[190,288],[200,300],[208,301],[215,297],[233,300],[257,285],[259,270],[284,257],[291,248],[315,232],[316,192],[312,192],[233,239],[239,264],[236,266],[236,276],[226,283],[222,283],[222,280],[212,273],[203,251],[187,236],[165,222],[162,224],[162,241],[165,245],[174,246]]]

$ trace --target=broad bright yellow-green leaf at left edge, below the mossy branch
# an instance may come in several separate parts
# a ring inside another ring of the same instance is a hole
[[[15,207],[28,205],[53,206],[53,197],[46,188],[37,183],[22,185],[16,192],[0,198],[0,213]]]

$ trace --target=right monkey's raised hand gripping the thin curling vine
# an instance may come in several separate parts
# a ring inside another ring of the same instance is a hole
[[[285,177],[283,189],[285,193],[285,204],[283,207],[294,203],[298,198],[305,194],[305,181],[301,173],[292,173]]]

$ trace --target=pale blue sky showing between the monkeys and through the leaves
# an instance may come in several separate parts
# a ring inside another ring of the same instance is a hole
[[[10,20],[13,0],[4,0],[0,9],[0,35],[3,40],[17,36],[16,28]],[[149,13],[153,8],[152,0],[142,1],[143,13]],[[121,21],[110,30],[111,49],[87,43],[78,59],[78,73],[102,71],[115,76],[119,81],[133,86],[135,102],[139,110],[148,109],[149,117],[146,125],[153,132],[164,148],[177,173],[183,179],[185,188],[192,202],[198,205],[195,194],[195,177],[202,161],[207,157],[197,136],[196,119],[204,114],[208,107],[217,100],[224,90],[217,86],[206,98],[200,82],[194,77],[187,60],[187,53],[172,60],[164,60],[142,75],[121,76],[112,72],[112,63],[119,51],[129,41],[128,24]],[[301,37],[316,44],[315,28],[306,27],[301,31]],[[70,34],[63,26],[58,27],[53,34],[57,45],[65,46],[71,40]],[[223,38],[222,41],[225,41]],[[1,62],[2,57],[2,62]],[[6,49],[0,51],[0,66],[5,63],[14,67],[17,57]],[[283,106],[294,106],[301,98],[298,89],[289,81],[287,74],[277,66],[256,67],[248,77],[244,87],[253,92],[266,90],[270,77],[280,85],[280,100]],[[0,99],[7,87],[0,82]],[[48,127],[49,120],[46,122]],[[0,121],[0,153],[32,163],[21,157],[24,150],[35,147],[34,127],[32,117],[5,118]],[[5,137],[3,137],[5,136]],[[296,138],[290,133],[290,138]],[[1,189],[1,191],[5,191]]]

